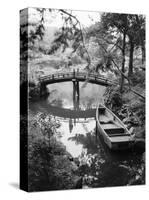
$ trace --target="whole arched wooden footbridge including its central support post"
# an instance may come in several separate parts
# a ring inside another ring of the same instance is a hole
[[[48,84],[72,81],[73,82],[73,104],[74,110],[79,110],[79,101],[80,101],[80,89],[79,81],[86,81],[102,86],[111,86],[116,85],[116,82],[111,81],[103,76],[97,75],[95,73],[85,73],[79,71],[73,71],[68,73],[56,73],[50,74],[48,76],[39,77],[40,84],[40,95],[44,96],[47,93],[46,86]]]

